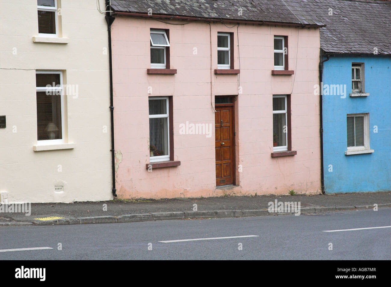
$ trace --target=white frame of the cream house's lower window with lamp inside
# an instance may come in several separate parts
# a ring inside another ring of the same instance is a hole
[[[47,71],[47,70],[36,70],[35,74],[59,74],[60,75],[60,87],[35,87],[36,93],[42,91],[60,91],[61,100],[61,139],[57,140],[38,140],[38,120],[37,120],[37,145],[56,145],[65,144],[65,107],[64,107],[64,93],[63,93],[63,72],[62,71]],[[36,98],[37,100],[37,98]],[[38,111],[37,111],[38,117]]]

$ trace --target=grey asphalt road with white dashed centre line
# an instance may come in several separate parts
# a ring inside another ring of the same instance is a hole
[[[0,260],[389,260],[391,228],[325,230],[390,226],[390,222],[391,208],[380,208],[300,216],[3,226]],[[257,236],[159,242],[247,235]],[[36,247],[53,249],[4,251]]]

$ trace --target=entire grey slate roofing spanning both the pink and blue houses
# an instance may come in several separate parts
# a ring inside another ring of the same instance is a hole
[[[391,2],[373,0],[111,0],[115,12],[324,26],[329,53],[391,54]],[[239,8],[242,14],[239,15]],[[333,15],[329,15],[329,8]]]

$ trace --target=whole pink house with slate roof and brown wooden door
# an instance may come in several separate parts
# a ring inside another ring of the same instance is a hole
[[[219,2],[111,0],[119,198],[320,193],[322,23]]]

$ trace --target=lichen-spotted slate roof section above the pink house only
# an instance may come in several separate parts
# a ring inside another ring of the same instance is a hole
[[[111,0],[117,12],[148,13],[152,8],[152,13],[163,15],[323,25],[305,5],[303,0]],[[296,12],[302,14],[300,20]]]

